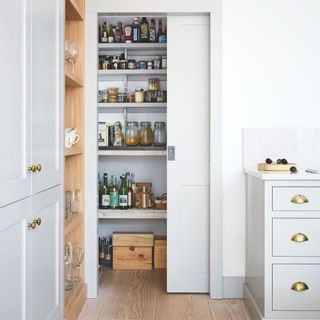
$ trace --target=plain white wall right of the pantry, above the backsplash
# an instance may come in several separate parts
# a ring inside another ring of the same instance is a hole
[[[242,128],[319,126],[320,1],[224,0],[222,12],[223,273],[243,276]]]

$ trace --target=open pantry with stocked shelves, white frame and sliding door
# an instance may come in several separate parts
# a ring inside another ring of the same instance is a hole
[[[135,40],[134,33],[126,32],[128,25],[133,31],[134,21],[140,23],[141,33],[142,23],[147,21],[148,40]],[[150,39],[151,26],[156,35],[160,26],[161,37]],[[101,265],[111,265],[101,255],[98,261],[96,239],[106,238],[100,239],[105,246],[107,239],[118,234],[116,241],[121,243],[119,232],[120,236],[152,233],[160,236],[161,245],[167,236],[167,291],[209,292],[209,30],[205,14],[87,15],[85,211],[91,214],[86,215],[85,225],[89,297],[97,295],[99,272],[107,276],[108,270]],[[160,142],[157,132],[162,132]],[[128,204],[127,191],[123,193],[115,181],[120,178],[126,186],[130,181],[130,187],[136,188],[132,203]],[[114,202],[114,192],[118,192],[120,203]],[[122,196],[127,197],[124,202]],[[123,253],[121,250],[114,246],[113,258],[116,252]],[[160,264],[164,266],[163,260]]]

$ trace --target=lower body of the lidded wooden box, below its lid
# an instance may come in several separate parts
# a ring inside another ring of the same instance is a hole
[[[113,269],[152,270],[152,247],[113,247]]]

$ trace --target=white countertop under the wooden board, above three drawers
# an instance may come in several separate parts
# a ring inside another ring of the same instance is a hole
[[[261,180],[320,180],[320,174],[305,172],[299,169],[297,173],[288,171],[261,171],[257,168],[245,168],[244,172]]]

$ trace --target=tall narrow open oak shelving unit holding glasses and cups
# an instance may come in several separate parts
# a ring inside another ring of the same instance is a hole
[[[79,56],[74,68],[65,70],[64,127],[77,128],[79,142],[65,150],[65,190],[80,190],[80,213],[65,219],[64,241],[84,248],[84,0],[65,0],[65,40],[78,44]],[[77,319],[86,301],[84,265],[81,266],[81,281],[73,290],[65,291],[64,319]]]

